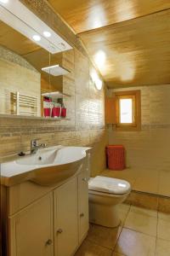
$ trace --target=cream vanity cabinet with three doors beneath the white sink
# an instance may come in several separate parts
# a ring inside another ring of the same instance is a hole
[[[8,256],[74,255],[88,233],[85,161],[82,166],[57,186],[26,182],[8,188]],[[24,201],[29,202],[25,207]]]

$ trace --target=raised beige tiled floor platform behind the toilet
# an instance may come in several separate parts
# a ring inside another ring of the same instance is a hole
[[[170,196],[169,170],[157,171],[154,168],[131,167],[122,171],[106,169],[101,175],[125,179],[136,191]]]

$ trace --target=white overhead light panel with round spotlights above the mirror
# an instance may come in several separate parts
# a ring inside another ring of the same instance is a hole
[[[34,42],[32,37],[39,35],[41,40],[36,41],[36,44],[51,54],[72,49],[70,44],[34,15],[31,10],[27,9],[23,3],[20,3],[20,0],[10,0],[8,4],[5,4],[5,1],[7,0],[0,0],[0,20],[8,26],[13,27],[14,30]],[[46,36],[44,32],[46,32]]]

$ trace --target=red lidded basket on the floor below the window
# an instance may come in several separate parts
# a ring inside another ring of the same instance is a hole
[[[110,170],[121,171],[126,168],[125,148],[122,145],[108,145],[106,147],[107,165]]]

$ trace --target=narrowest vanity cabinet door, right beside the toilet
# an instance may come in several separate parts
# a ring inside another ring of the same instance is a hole
[[[78,176],[78,213],[79,213],[79,243],[86,236],[89,228],[88,219],[88,177],[86,172]]]

